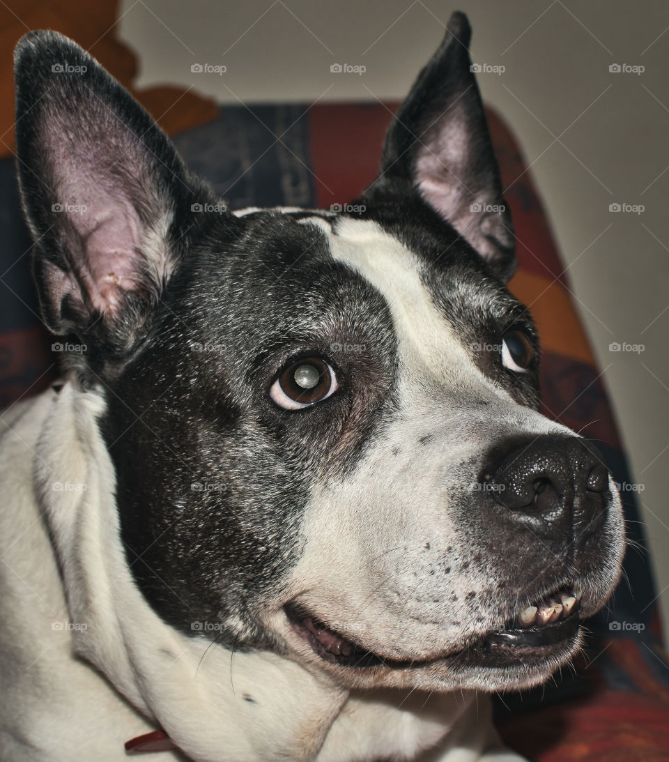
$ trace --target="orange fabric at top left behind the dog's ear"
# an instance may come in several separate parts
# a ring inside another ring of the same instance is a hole
[[[72,37],[101,62],[169,134],[214,119],[214,101],[178,87],[137,90],[137,56],[117,39],[117,0],[5,0],[0,3],[0,158],[14,153],[12,56],[20,37],[33,29],[53,29]],[[172,108],[179,101],[178,108]]]

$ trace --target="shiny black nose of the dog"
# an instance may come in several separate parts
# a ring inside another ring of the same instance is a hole
[[[488,471],[506,519],[549,539],[584,539],[600,529],[609,472],[596,447],[577,437],[540,436],[504,454]]]

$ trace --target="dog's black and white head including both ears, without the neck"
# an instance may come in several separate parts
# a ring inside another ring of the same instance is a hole
[[[468,44],[456,14],[356,213],[233,214],[82,50],[21,43],[44,318],[88,347],[127,562],[190,636],[498,689],[564,662],[618,580],[613,481],[536,409]]]

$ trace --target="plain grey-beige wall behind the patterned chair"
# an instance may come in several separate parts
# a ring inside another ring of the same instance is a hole
[[[396,98],[457,6],[435,0],[124,0],[123,37],[140,84],[194,85],[220,101]],[[484,98],[514,128],[546,200],[628,444],[645,487],[669,632],[669,3],[469,0]],[[666,34],[665,34],[666,33]],[[367,68],[332,74],[332,63]],[[191,73],[193,63],[227,67]],[[610,64],[644,66],[640,75]],[[665,171],[667,170],[667,171]],[[664,173],[664,174],[663,174]],[[645,211],[611,213],[611,203]],[[614,353],[611,342],[644,344]]]

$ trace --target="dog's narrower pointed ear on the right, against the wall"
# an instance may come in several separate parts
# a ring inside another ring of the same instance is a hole
[[[418,187],[506,280],[514,271],[515,238],[472,72],[470,39],[465,14],[454,13],[443,42],[390,126],[373,189],[405,182]]]

